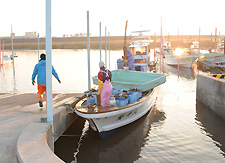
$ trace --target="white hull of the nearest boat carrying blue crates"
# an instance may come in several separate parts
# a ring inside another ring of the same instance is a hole
[[[98,131],[101,138],[105,138],[116,129],[128,125],[144,116],[154,105],[156,88],[149,93],[144,100],[127,105],[123,109],[100,114],[83,114],[75,109],[78,116],[89,121],[91,128]]]

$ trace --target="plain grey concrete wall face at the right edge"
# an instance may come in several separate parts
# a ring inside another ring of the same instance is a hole
[[[196,98],[225,119],[225,80],[198,75]]]

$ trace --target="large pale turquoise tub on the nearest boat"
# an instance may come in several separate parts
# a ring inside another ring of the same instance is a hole
[[[98,85],[98,76],[92,77],[93,83]],[[166,82],[166,75],[160,73],[149,73],[129,70],[112,71],[113,89],[139,89],[147,91]]]

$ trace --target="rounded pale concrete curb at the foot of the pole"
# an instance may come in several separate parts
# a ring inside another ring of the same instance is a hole
[[[52,149],[52,125],[48,123],[31,123],[20,134],[17,141],[17,162],[39,163],[54,162],[62,163]],[[35,149],[35,150],[34,150]]]

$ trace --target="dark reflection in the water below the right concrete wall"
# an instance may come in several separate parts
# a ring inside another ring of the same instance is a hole
[[[196,123],[206,132],[206,135],[214,140],[225,157],[225,121],[202,103],[196,101]]]

